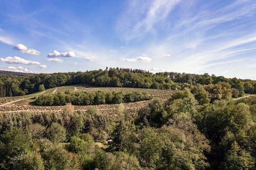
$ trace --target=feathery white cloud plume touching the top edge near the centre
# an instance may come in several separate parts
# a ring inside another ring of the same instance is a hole
[[[117,30],[130,40],[155,31],[155,25],[164,22],[180,0],[131,0],[118,21]]]

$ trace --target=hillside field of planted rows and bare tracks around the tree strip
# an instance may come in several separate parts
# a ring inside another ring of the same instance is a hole
[[[128,93],[131,91],[148,92],[149,95],[154,98],[161,98],[166,100],[171,97],[175,91],[171,90],[157,90],[157,89],[145,89],[145,88],[115,88],[115,87],[86,87],[86,86],[61,86],[56,88],[47,89],[41,93],[34,93],[31,95],[19,96],[19,97],[4,97],[0,98],[0,113],[12,113],[12,112],[62,112],[65,106],[33,106],[33,101],[36,96],[42,94],[53,94],[58,92],[65,92],[70,90],[75,91],[124,91]],[[131,116],[136,116],[137,110],[144,106],[148,101],[134,102],[134,103],[124,103],[125,108],[131,114]],[[110,115],[113,119],[116,118],[115,109],[116,104],[103,104],[103,105],[92,105],[92,106],[74,106],[74,110],[87,110],[89,107],[96,107],[101,111],[101,113],[106,113]]]

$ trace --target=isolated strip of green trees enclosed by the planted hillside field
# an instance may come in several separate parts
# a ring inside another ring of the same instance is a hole
[[[72,105],[98,105],[98,104],[120,104],[122,102],[139,102],[152,99],[148,92],[124,91],[113,92],[74,92],[67,90],[65,93],[40,95],[36,98],[34,104],[37,106],[63,106],[67,103]]]

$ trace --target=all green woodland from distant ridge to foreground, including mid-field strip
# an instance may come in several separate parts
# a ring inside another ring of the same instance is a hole
[[[0,112],[1,170],[256,170],[255,80],[129,68],[1,74],[0,97],[74,84],[134,91],[35,95],[31,105],[64,109]],[[136,114],[124,105],[143,100]],[[99,104],[115,106],[117,119]]]

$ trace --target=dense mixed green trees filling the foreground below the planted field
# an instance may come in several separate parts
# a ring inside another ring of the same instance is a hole
[[[71,104],[61,114],[1,113],[0,169],[255,170],[256,99],[200,104],[191,92],[202,86],[149,101],[134,118],[117,104],[116,122]]]

